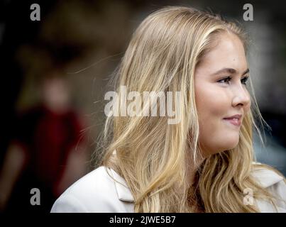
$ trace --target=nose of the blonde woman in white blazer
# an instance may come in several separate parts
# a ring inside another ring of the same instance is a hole
[[[233,107],[242,106],[243,108],[249,108],[251,105],[251,97],[246,89],[245,85],[239,84],[235,88],[232,100]]]

